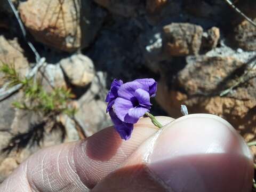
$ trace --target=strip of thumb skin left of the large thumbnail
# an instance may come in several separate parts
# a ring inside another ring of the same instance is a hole
[[[167,190],[164,183],[150,172],[146,163],[146,159],[150,151],[153,150],[154,142],[160,132],[161,130],[143,142],[119,169],[101,180],[91,192],[173,192]]]

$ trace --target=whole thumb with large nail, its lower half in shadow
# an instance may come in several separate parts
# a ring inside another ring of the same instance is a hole
[[[252,177],[252,156],[234,128],[220,117],[195,114],[148,138],[92,192],[240,192],[250,190]]]

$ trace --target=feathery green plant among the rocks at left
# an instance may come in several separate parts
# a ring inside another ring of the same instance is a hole
[[[20,78],[14,66],[3,63],[0,71],[9,86],[22,85],[23,101],[13,102],[15,108],[31,110],[44,116],[67,114],[73,117],[76,108],[70,105],[74,95],[69,89],[63,87],[53,88],[51,92],[44,90],[43,86],[33,78]]]

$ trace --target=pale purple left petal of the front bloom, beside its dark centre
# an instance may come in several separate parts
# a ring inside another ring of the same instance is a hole
[[[124,98],[116,98],[114,103],[114,110],[117,117],[124,121],[124,117],[128,114],[128,111],[133,108],[132,102]],[[126,122],[128,123],[128,122]]]

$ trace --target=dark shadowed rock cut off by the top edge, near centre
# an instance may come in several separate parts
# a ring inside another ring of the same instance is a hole
[[[105,7],[110,12],[122,15],[124,17],[135,17],[136,15],[140,14],[140,11],[143,11],[143,3],[140,0],[94,0],[94,2]]]

